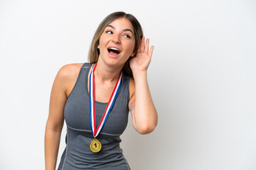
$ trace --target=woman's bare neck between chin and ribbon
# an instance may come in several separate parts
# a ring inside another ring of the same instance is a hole
[[[122,67],[109,67],[99,60],[95,68],[95,77],[100,81],[117,81],[120,72]]]

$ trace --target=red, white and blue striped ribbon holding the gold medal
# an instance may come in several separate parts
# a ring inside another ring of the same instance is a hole
[[[117,83],[114,86],[114,90],[112,92],[112,95],[110,96],[110,100],[107,103],[107,108],[105,110],[105,113],[102,115],[102,120],[100,120],[100,124],[98,125],[96,129],[96,120],[95,120],[95,68],[97,66],[97,63],[92,67],[92,71],[90,72],[90,84],[89,84],[89,101],[90,101],[90,126],[92,129],[92,135],[93,137],[97,137],[99,135],[100,130],[102,130],[103,126],[105,125],[107,121],[108,115],[110,115],[110,111],[112,109],[112,106],[114,105],[114,101],[117,98],[118,91],[121,86],[122,81],[122,72],[119,75],[119,78],[117,80]]]

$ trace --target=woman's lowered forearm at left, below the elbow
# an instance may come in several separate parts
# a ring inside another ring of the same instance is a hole
[[[61,131],[51,130],[46,126],[45,135],[45,161],[46,170],[55,170]]]

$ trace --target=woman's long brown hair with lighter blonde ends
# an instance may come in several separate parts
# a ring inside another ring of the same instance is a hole
[[[124,13],[122,11],[120,12],[114,12],[110,13],[98,26],[97,30],[95,31],[95,35],[92,38],[92,43],[90,45],[90,50],[88,53],[88,61],[90,63],[95,63],[99,59],[100,50],[97,48],[99,45],[100,36],[102,35],[105,28],[115,19],[117,18],[127,18],[128,21],[132,23],[133,29],[134,29],[134,37],[135,37],[135,45],[134,45],[134,57],[137,55],[137,51],[139,49],[139,44],[141,42],[141,38],[143,36],[142,26],[140,25],[139,21],[137,21],[137,18],[132,16],[132,14]],[[122,72],[124,75],[133,77],[132,75],[132,69],[129,67],[129,59],[127,62],[125,62],[124,67],[122,68]]]

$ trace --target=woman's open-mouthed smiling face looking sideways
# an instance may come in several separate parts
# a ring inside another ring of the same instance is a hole
[[[127,18],[112,21],[100,36],[99,60],[110,65],[123,65],[134,55],[135,37],[132,23]]]

